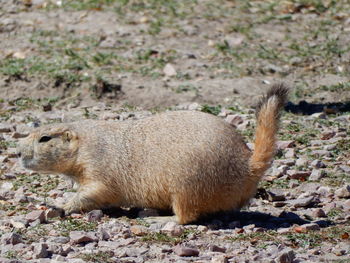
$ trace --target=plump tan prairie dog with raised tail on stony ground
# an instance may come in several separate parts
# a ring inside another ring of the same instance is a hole
[[[79,184],[66,213],[105,206],[172,209],[186,224],[239,209],[254,195],[274,156],[287,93],[274,85],[258,104],[253,152],[230,124],[197,111],[47,125],[22,139],[18,152],[24,167]]]

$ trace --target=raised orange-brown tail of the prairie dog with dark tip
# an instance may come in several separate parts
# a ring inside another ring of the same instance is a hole
[[[256,108],[255,146],[249,163],[251,175],[254,177],[263,176],[270,167],[275,154],[280,112],[286,103],[287,96],[288,88],[283,84],[275,84],[260,100]]]

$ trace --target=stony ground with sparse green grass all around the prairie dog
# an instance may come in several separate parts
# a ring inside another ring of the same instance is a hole
[[[345,0],[0,0],[0,261],[349,262],[349,14]],[[241,212],[61,218],[47,204],[74,188],[17,162],[38,125],[177,109],[252,143],[257,98],[281,81],[277,155]]]

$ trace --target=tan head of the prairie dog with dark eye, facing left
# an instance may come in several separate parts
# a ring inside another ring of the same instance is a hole
[[[47,126],[19,141],[17,153],[22,165],[40,172],[64,173],[76,160],[78,136],[69,128]]]

